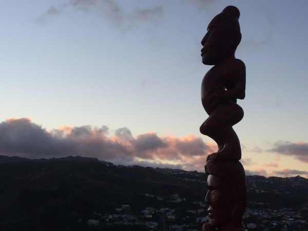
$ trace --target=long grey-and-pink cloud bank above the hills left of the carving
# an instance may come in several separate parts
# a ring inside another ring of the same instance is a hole
[[[176,166],[201,170],[216,144],[204,143],[200,137],[159,137],[148,132],[133,137],[128,128],[61,126],[48,131],[29,118],[8,119],[0,123],[0,155],[26,158],[66,156],[96,157],[123,165]],[[147,163],[147,164],[146,164]]]

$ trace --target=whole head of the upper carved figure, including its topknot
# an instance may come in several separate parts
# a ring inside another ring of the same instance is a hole
[[[201,41],[203,64],[215,65],[227,57],[234,57],[242,38],[239,17],[238,8],[227,6],[208,24],[207,33]]]

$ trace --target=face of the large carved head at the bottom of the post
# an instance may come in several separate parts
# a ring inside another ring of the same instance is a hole
[[[209,204],[208,216],[209,223],[214,227],[223,227],[232,223],[232,210],[234,200],[232,190],[228,183],[217,176],[209,175],[207,177],[207,194],[205,203]]]

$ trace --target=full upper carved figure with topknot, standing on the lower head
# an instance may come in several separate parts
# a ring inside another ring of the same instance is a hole
[[[241,146],[232,128],[244,112],[237,99],[245,98],[245,64],[235,58],[241,42],[238,22],[240,12],[228,6],[213,18],[201,44],[202,63],[215,65],[204,76],[201,86],[202,105],[209,115],[200,132],[215,140],[218,151],[208,159],[241,159]]]

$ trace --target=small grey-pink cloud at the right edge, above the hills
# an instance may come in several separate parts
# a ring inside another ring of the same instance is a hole
[[[291,143],[287,141],[277,141],[274,148],[269,151],[278,152],[280,155],[294,156],[295,159],[304,163],[308,163],[308,143],[296,142]]]

